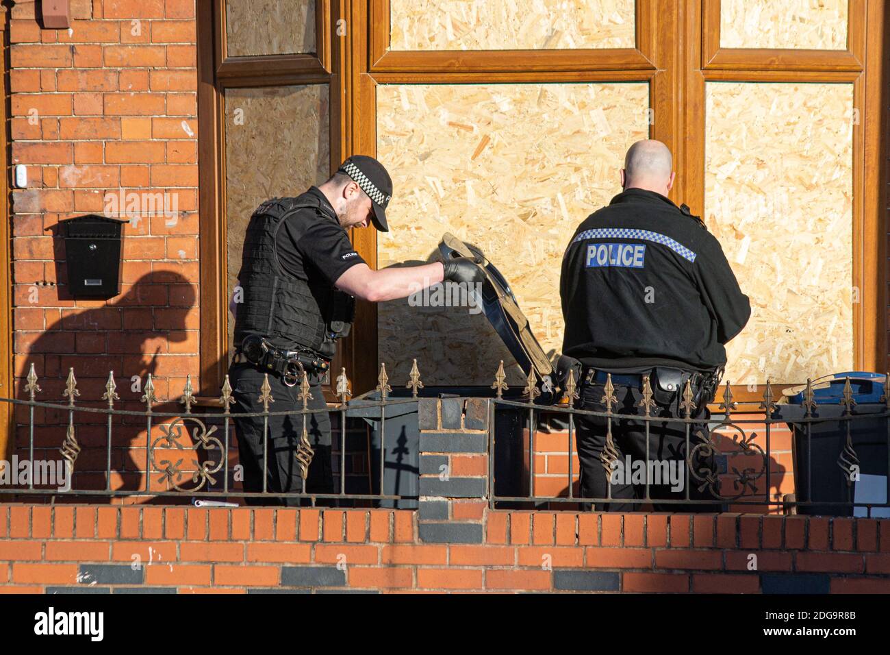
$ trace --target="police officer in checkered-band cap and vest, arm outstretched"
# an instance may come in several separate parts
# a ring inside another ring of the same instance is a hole
[[[266,373],[274,399],[270,412],[302,409],[303,375],[311,385],[309,408],[325,408],[320,381],[336,340],[349,332],[354,299],[406,298],[443,280],[481,282],[481,269],[469,258],[372,270],[346,231],[373,223],[387,232],[391,198],[392,179],[383,165],[355,155],[324,184],[295,198],[273,198],[255,210],[239,273],[243,299],[237,301],[236,290],[230,304],[236,316],[229,369],[232,413],[263,412],[259,398]],[[307,493],[333,493],[328,413],[307,416],[308,444],[301,443],[299,413],[269,416],[265,439],[263,416],[234,419],[245,491],[263,491],[265,470],[266,490],[273,494],[247,497],[248,504],[300,504],[299,498],[274,494],[302,492],[304,479]]]

